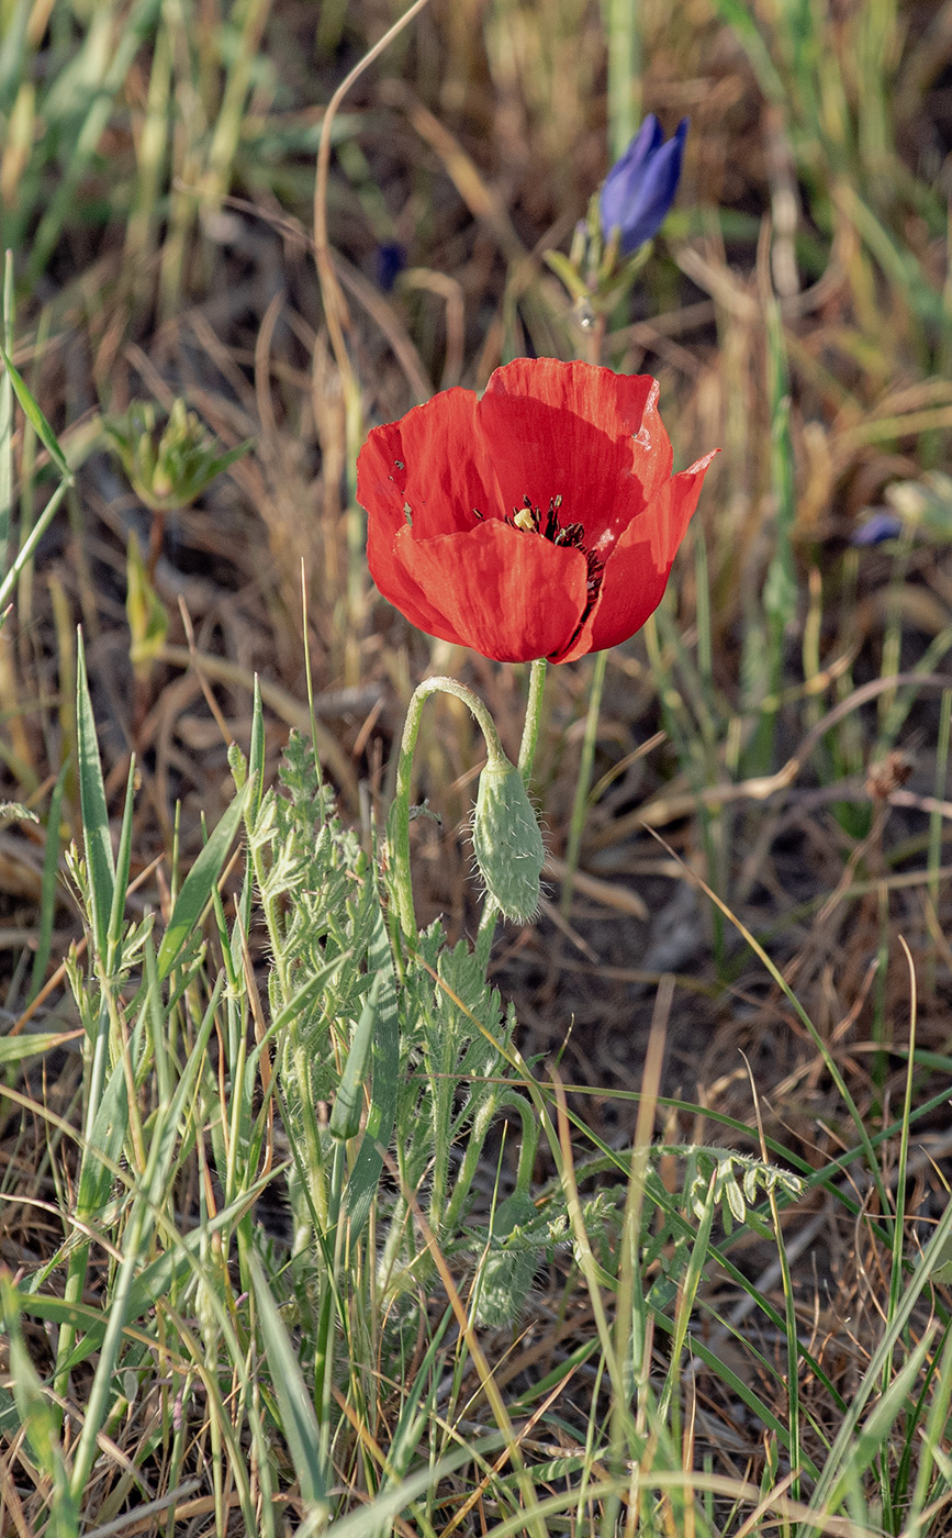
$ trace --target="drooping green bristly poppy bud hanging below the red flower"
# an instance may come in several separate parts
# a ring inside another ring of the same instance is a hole
[[[504,754],[491,752],[480,775],[472,849],[500,912],[528,924],[538,912],[546,851],[523,777]]]

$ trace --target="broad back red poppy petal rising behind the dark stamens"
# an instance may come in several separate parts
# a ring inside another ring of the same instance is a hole
[[[517,358],[497,369],[477,420],[503,508],[528,492],[544,511],[561,495],[561,523],[581,523],[589,549],[611,549],[671,475],[657,398],[647,374],[591,363]]]

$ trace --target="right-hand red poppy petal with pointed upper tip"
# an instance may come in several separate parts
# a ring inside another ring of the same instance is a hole
[[[691,469],[666,481],[641,517],[629,523],[604,564],[598,601],[581,635],[564,657],[554,661],[572,661],[584,652],[617,646],[640,631],[655,612],[678,544],[697,508],[704,474],[717,452],[714,449]]]

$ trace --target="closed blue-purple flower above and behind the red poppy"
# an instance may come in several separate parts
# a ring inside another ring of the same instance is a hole
[[[664,143],[664,132],[649,112],[601,188],[601,232],[606,240],[621,232],[621,252],[627,257],[658,229],[674,203],[681,175],[687,118]]]

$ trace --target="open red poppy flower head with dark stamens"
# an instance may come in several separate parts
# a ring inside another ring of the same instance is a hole
[[[574,661],[654,614],[707,454],[671,474],[649,375],[517,358],[374,428],[357,461],[374,581],[483,657]],[[717,452],[717,451],[715,451]]]

